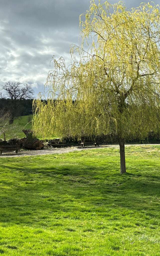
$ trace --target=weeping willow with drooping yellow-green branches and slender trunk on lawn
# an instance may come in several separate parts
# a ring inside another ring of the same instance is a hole
[[[160,127],[159,6],[91,1],[80,16],[80,39],[68,67],[62,57],[54,59],[48,102],[41,95],[34,102],[34,131],[44,137],[112,134],[125,173],[126,138],[144,138]]]

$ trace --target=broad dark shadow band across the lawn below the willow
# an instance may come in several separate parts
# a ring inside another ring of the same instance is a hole
[[[144,173],[133,170],[134,173],[120,175],[115,163],[101,166],[60,163],[30,168],[18,165],[1,165],[2,222],[33,223],[38,215],[37,221],[45,225],[50,214],[61,218],[77,212],[78,218],[84,213],[96,212],[105,216],[109,208],[147,209],[149,217],[156,216],[160,183],[158,172],[154,170],[157,175],[149,174],[150,167],[146,167]]]

